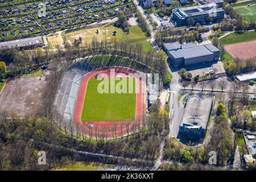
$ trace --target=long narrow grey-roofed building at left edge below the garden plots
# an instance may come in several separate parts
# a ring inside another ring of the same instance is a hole
[[[27,39],[19,39],[19,40],[11,40],[8,42],[0,42],[0,49],[11,48],[11,47],[27,47],[34,46],[37,44],[42,44],[42,37],[37,36],[35,38],[27,38]]]

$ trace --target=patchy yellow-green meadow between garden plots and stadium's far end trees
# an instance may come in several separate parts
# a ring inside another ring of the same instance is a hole
[[[98,30],[98,34],[96,31]],[[117,35],[112,35],[116,31]],[[64,34],[69,43],[73,43],[75,39],[82,38],[82,43],[90,44],[93,39],[98,41],[119,40],[127,42],[129,44],[142,44],[143,51],[154,51],[154,48],[151,46],[150,42],[147,42],[147,39],[150,39],[138,26],[131,26],[130,32],[123,32],[121,28],[114,27],[112,24],[106,26],[94,27],[94,28],[85,28],[79,31],[69,32]]]

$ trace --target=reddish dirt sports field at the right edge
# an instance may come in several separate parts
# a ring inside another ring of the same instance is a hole
[[[246,59],[256,56],[256,41],[232,44],[225,46],[226,51],[232,57],[239,57],[240,59]]]

